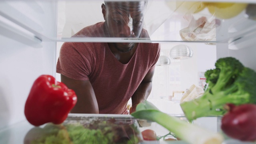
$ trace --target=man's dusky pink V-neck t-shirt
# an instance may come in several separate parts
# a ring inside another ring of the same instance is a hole
[[[100,32],[103,23],[88,26],[76,35],[88,28]],[[122,64],[107,43],[65,42],[56,71],[74,80],[90,80],[100,114],[128,114],[128,100],[144,76],[154,70],[159,54],[158,43],[140,43],[131,60]]]

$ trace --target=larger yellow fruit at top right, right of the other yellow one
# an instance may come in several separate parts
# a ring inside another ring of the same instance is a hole
[[[231,2],[203,2],[216,18],[229,19],[240,14],[248,4]]]

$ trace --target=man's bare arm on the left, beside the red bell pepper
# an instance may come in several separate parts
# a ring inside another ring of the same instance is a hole
[[[89,80],[74,80],[60,75],[61,82],[76,92],[77,102],[71,113],[98,114],[99,108]]]

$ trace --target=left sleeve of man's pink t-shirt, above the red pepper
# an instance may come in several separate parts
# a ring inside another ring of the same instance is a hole
[[[84,54],[91,52],[82,42],[65,42],[60,48],[56,72],[74,80],[89,80],[93,62],[90,56]]]

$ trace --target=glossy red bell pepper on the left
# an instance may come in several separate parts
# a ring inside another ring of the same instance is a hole
[[[53,76],[41,75],[32,85],[25,104],[25,116],[34,126],[48,122],[61,124],[77,102],[73,90]]]

